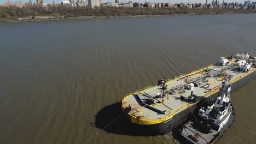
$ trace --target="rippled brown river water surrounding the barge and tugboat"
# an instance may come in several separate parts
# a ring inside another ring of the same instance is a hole
[[[0,23],[0,143],[179,143],[172,134],[109,130],[120,121],[102,128],[127,93],[163,76],[172,79],[237,52],[256,56],[255,17]],[[218,143],[255,143],[255,88],[252,80],[232,93],[237,118]]]

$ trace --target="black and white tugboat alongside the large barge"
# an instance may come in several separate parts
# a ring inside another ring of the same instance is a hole
[[[207,107],[201,107],[198,115],[181,127],[186,143],[216,143],[235,121],[236,113],[230,101],[231,83],[227,76],[220,96]]]

